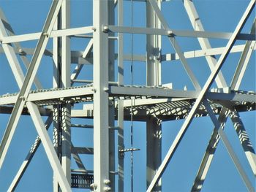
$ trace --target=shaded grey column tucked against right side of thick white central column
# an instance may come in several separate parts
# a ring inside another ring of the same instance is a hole
[[[115,4],[114,1],[108,1],[108,24],[115,25]],[[113,32],[109,33],[114,36]],[[108,80],[115,81],[115,40],[108,40]],[[115,107],[113,101],[109,101],[109,126],[115,126]],[[115,129],[109,131],[109,169],[112,191],[115,191],[116,161],[115,161]]]

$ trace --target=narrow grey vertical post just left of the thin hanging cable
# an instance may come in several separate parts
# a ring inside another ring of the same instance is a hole
[[[118,26],[123,26],[123,0],[118,1]],[[118,33],[118,85],[124,83],[123,64],[124,36]],[[124,149],[124,101],[118,100],[118,191],[124,191],[124,153],[119,150]]]

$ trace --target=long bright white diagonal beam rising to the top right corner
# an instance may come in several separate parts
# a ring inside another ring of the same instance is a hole
[[[192,107],[191,111],[189,112],[189,115],[187,119],[184,121],[184,124],[181,126],[180,131],[178,132],[176,138],[173,141],[173,144],[169,148],[167,155],[165,156],[164,160],[162,161],[161,166],[159,167],[159,170],[157,171],[157,174],[155,175],[154,179],[151,182],[151,185],[149,185],[147,191],[152,191],[154,188],[154,185],[157,183],[157,181],[162,176],[163,172],[165,171],[165,168],[167,164],[170,161],[170,158],[172,158],[173,153],[176,151],[176,148],[178,147],[178,144],[181,142],[182,137],[184,136],[185,132],[187,131],[187,128],[189,124],[192,122],[192,119],[195,115],[195,112],[197,110],[197,107],[201,103],[203,96],[205,96],[206,91],[208,91],[208,88],[210,88],[212,82],[214,82],[215,77],[217,76],[219,70],[221,69],[222,65],[225,62],[225,59],[227,58],[228,53],[231,50],[231,47],[236,41],[236,36],[240,33],[241,29],[243,28],[244,24],[246,23],[247,18],[249,17],[250,13],[252,12],[252,9],[255,7],[255,0],[250,1],[248,7],[246,8],[246,11],[244,12],[244,15],[242,16],[241,20],[238,23],[238,26],[236,26],[235,31],[233,32],[232,37],[227,42],[227,46],[225,48],[225,51],[220,56],[217,65],[213,72],[211,72],[211,75],[208,77],[208,80],[206,81],[206,84],[203,86],[202,91],[200,91],[199,95],[197,96],[197,99],[195,101],[194,106]]]

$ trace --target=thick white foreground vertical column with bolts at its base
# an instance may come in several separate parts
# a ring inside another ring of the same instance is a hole
[[[108,1],[93,1],[94,190],[110,191],[108,131]]]

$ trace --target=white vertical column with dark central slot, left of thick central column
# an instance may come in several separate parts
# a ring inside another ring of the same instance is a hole
[[[64,0],[59,11],[55,29],[66,29],[70,26],[70,1]],[[53,87],[70,87],[70,37],[53,38],[54,78]],[[64,174],[71,184],[71,132],[70,132],[70,104],[56,106],[53,110],[53,144],[61,161]],[[58,183],[54,181],[53,191],[59,191]]]

